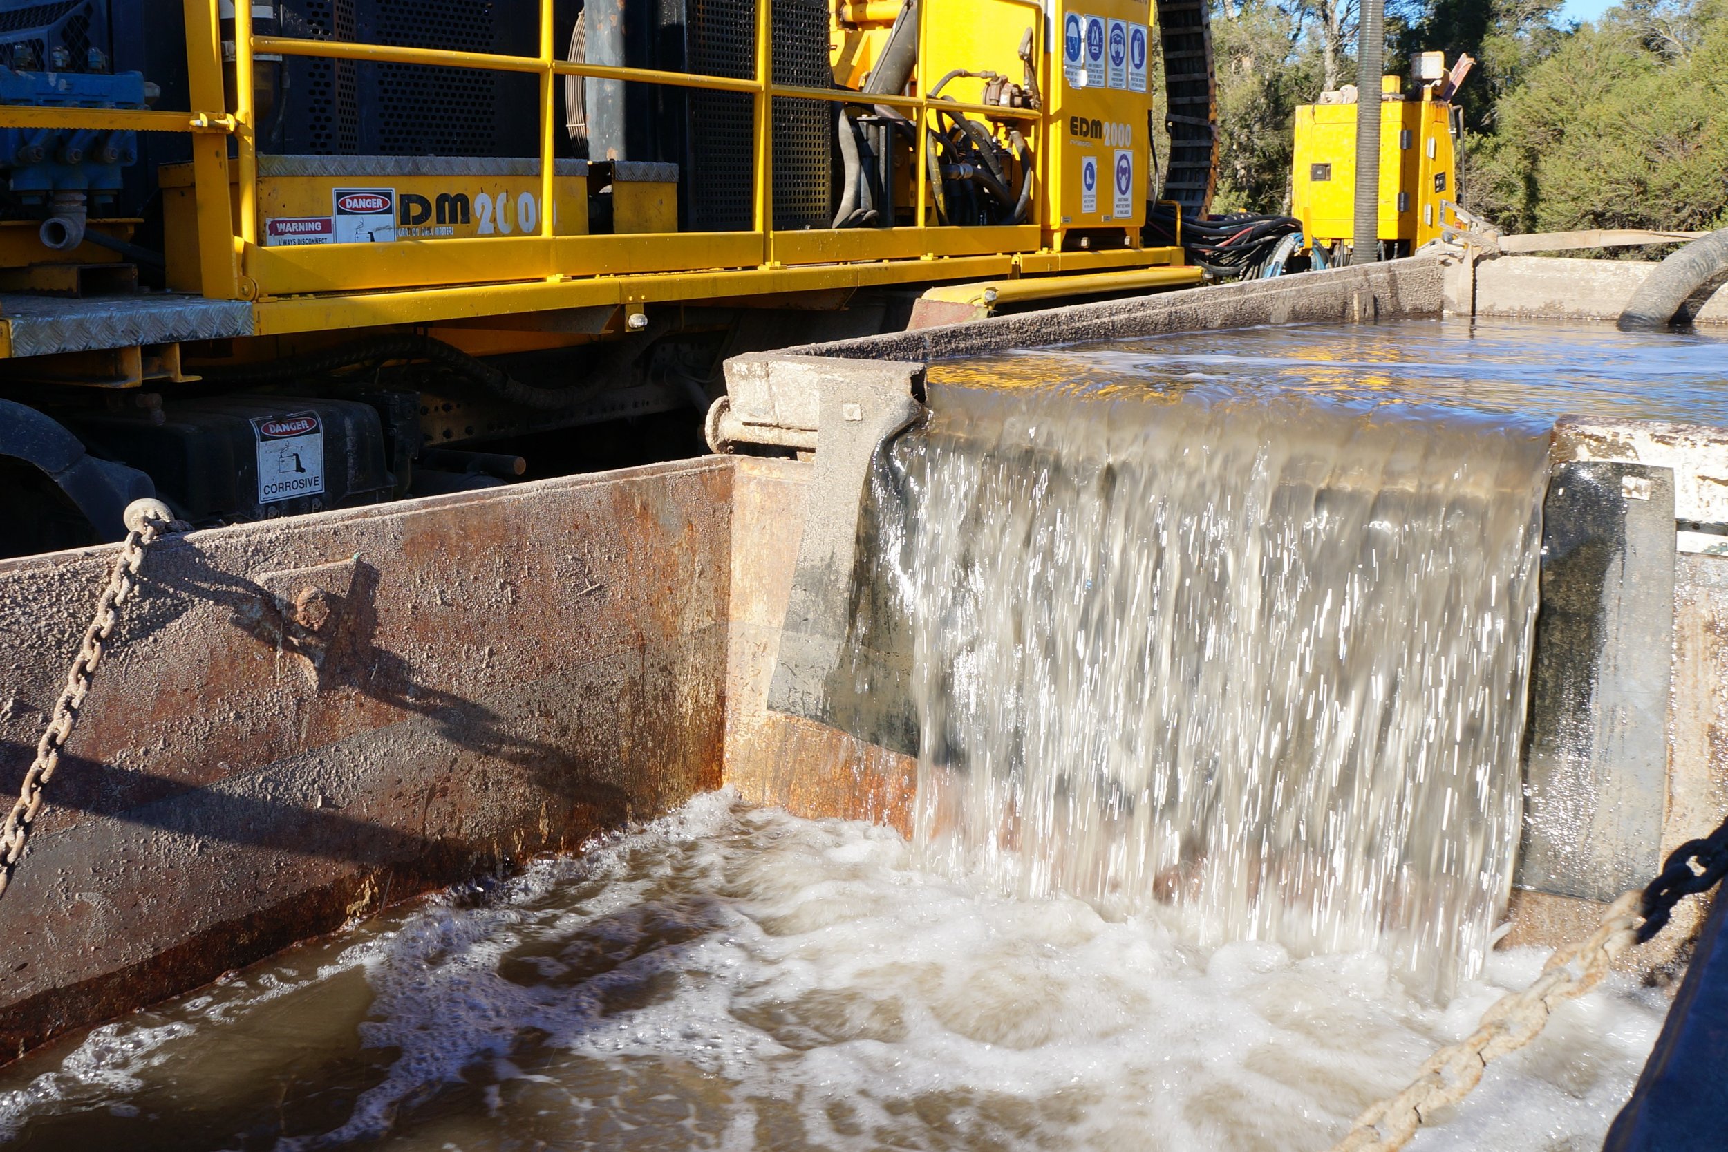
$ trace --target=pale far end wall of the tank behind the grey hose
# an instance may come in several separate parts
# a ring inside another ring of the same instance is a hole
[[[1500,256],[1476,263],[1477,316],[1526,320],[1619,320],[1650,275],[1650,261],[1591,261],[1564,256]],[[1676,320],[1728,325],[1728,285],[1700,288]]]

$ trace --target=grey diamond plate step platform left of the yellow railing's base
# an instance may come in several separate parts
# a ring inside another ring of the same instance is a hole
[[[206,301],[183,292],[142,292],[83,301],[0,292],[0,323],[10,333],[14,358],[50,356],[140,344],[249,337],[252,306],[245,301]]]

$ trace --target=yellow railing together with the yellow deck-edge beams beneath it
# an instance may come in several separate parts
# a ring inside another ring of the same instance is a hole
[[[194,109],[223,109],[223,43],[218,0],[183,0],[187,24],[187,73]],[[1033,21],[1040,71],[1049,73],[1044,52],[1044,21],[1037,0],[997,0],[1025,7]],[[857,104],[848,90],[804,88],[772,83],[771,0],[759,0],[755,12],[757,67],[752,79],[664,73],[641,67],[560,60],[553,40],[553,0],[539,0],[539,55],[517,57],[487,52],[448,52],[330,40],[259,36],[252,31],[252,7],[233,5],[235,111],[156,112],[130,109],[41,109],[0,107],[0,124],[43,128],[130,128],[138,131],[188,131],[194,135],[192,178],[197,197],[197,249],[204,295],[254,301],[257,330],[294,332],[366,323],[418,323],[463,314],[503,314],[541,307],[570,307],[582,301],[702,299],[707,294],[857,287],[862,283],[911,283],[966,276],[1004,276],[1021,271],[1097,269],[1180,263],[1180,249],[1149,249],[1109,254],[1109,259],[1077,259],[1054,254],[1039,225],[999,228],[935,226],[926,219],[930,174],[924,149],[916,154],[914,219],[909,228],[854,228],[776,231],[772,216],[772,131],[774,98]],[[930,5],[919,5],[919,40],[930,36]],[[532,235],[487,237],[484,240],[397,240],[377,245],[264,247],[257,238],[257,142],[252,60],[257,55],[301,55],[441,67],[492,69],[539,76],[539,173],[543,204],[551,200],[556,154],[556,81],[562,76],[631,79],[679,88],[743,92],[753,97],[755,112],[755,197],[752,230],[727,233],[634,233],[551,235],[551,212],[544,212]],[[928,128],[931,109],[969,112],[1026,123],[1028,143],[1039,157],[1035,202],[1045,190],[1044,140],[1051,123],[1044,111],[1009,109],[954,100],[928,100],[924,52],[918,55],[919,95],[873,95],[871,104],[904,109]],[[1049,90],[1049,76],[1040,76]],[[235,157],[228,157],[228,138]],[[230,195],[230,162],[238,212]],[[1097,254],[1104,257],[1106,254]],[[1127,257],[1127,259],[1125,259]],[[802,268],[800,275],[781,269]],[[721,275],[726,273],[726,275]],[[753,275],[762,273],[762,275]],[[506,290],[515,285],[515,290]],[[537,285],[537,290],[525,290]],[[475,311],[475,294],[489,304]],[[365,294],[365,295],[358,295]],[[385,302],[378,294],[389,294]],[[325,297],[318,304],[297,297]],[[330,299],[339,297],[339,299]]]

